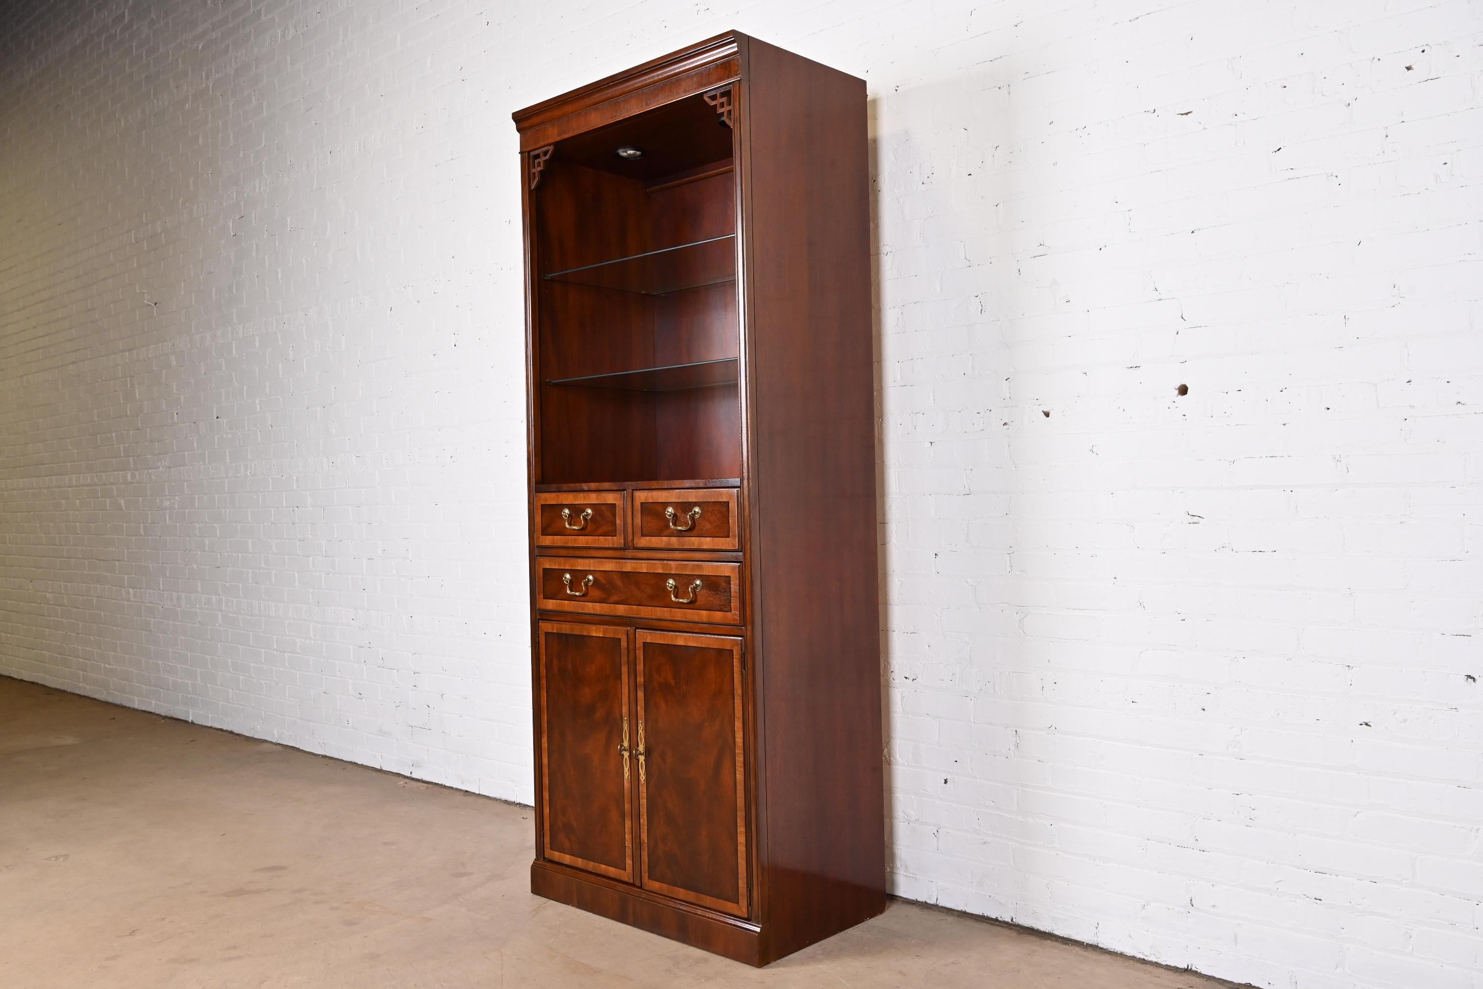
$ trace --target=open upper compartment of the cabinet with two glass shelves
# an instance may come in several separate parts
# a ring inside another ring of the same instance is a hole
[[[541,159],[528,200],[535,483],[742,473],[733,138],[696,93]],[[642,156],[617,154],[627,147]]]

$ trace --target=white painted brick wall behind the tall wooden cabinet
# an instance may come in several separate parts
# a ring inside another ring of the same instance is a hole
[[[894,890],[1483,986],[1476,0],[7,4],[0,672],[528,801],[509,113],[727,27],[871,85]]]

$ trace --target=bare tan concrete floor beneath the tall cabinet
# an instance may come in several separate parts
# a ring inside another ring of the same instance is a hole
[[[532,897],[531,811],[0,678],[6,986],[1207,989],[893,902],[752,970]]]

